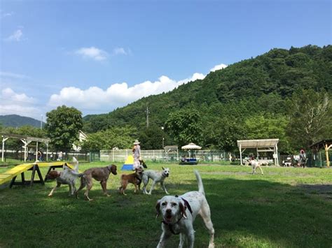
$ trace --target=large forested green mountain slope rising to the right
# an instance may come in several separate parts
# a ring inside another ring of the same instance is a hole
[[[217,117],[242,119],[251,115],[285,114],[293,93],[303,89],[332,92],[332,46],[272,49],[209,73],[204,80],[181,85],[172,92],[148,96],[102,115],[83,118],[88,133],[111,126],[164,126],[168,115],[181,108],[195,108],[203,124]]]

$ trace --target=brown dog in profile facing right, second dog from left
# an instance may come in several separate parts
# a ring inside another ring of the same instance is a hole
[[[79,189],[76,191],[76,198],[78,198],[78,191],[83,189],[85,185],[88,185],[86,188],[86,191],[84,193],[85,197],[88,200],[92,200],[89,198],[89,191],[92,188],[92,177],[99,181],[100,184],[102,185],[102,190],[104,191],[105,196],[110,196],[107,194],[107,189],[106,189],[106,184],[107,180],[109,179],[109,174],[117,175],[118,173],[116,172],[116,165],[111,165],[111,166],[106,166],[106,167],[101,167],[101,168],[90,168],[88,170],[85,170],[83,172],[83,176],[81,177],[81,186]]]

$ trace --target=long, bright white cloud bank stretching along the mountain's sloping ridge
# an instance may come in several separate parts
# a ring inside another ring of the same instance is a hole
[[[202,73],[194,73],[190,78],[176,81],[162,75],[155,82],[148,80],[132,87],[129,87],[126,82],[122,82],[113,84],[106,90],[99,87],[88,89],[64,87],[59,94],[50,96],[48,104],[52,106],[71,105],[84,110],[111,111],[137,101],[144,96],[170,92],[179,85],[203,78],[205,78],[205,75]]]

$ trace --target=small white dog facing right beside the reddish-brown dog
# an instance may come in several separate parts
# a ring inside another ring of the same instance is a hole
[[[168,195],[169,193],[167,192],[167,189],[165,188],[164,180],[169,175],[170,175],[170,169],[169,168],[163,168],[162,167],[162,171],[144,170],[143,175],[141,177],[141,180],[143,181],[143,184],[144,184],[143,193],[151,195],[151,192],[153,191],[153,189],[155,187],[155,184],[158,184],[158,182],[160,182],[160,185],[161,185],[162,189]],[[146,185],[148,184],[148,180],[150,178],[153,180],[153,182],[152,182],[150,191],[146,192]]]

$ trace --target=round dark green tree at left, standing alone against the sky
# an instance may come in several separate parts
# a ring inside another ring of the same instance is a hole
[[[56,149],[71,149],[83,127],[82,112],[65,105],[46,113],[45,129]]]

